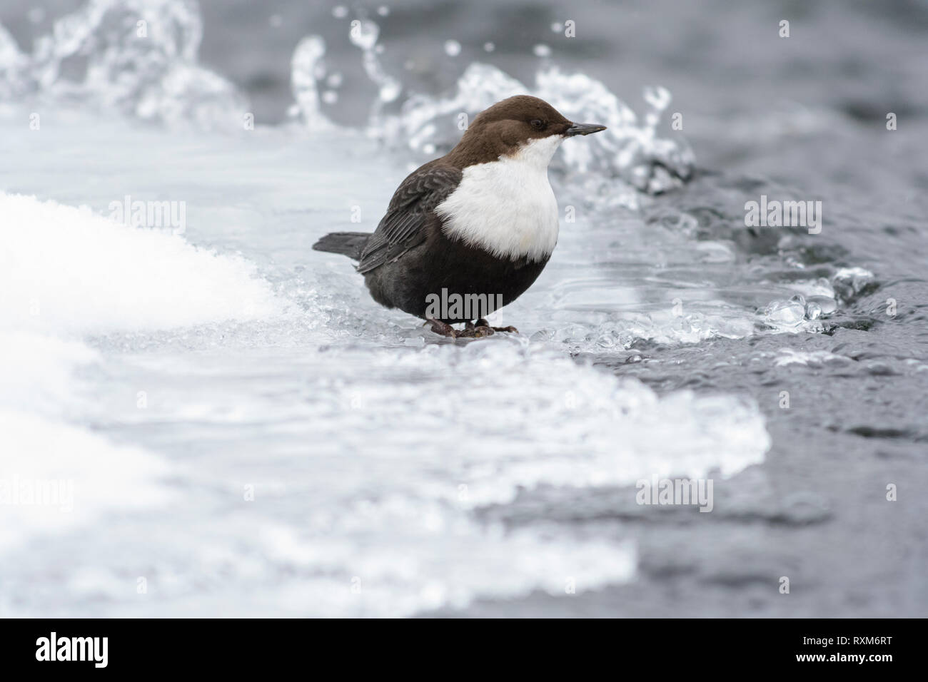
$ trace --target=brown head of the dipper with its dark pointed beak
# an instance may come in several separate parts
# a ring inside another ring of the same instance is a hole
[[[574,135],[589,135],[605,130],[598,123],[574,123],[544,99],[529,95],[508,97],[481,111],[470,123],[458,146],[445,156],[445,161],[458,168],[474,163],[496,161],[512,156],[529,143]]]

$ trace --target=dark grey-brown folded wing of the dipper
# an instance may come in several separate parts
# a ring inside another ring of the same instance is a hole
[[[461,172],[440,160],[430,161],[406,177],[390,199],[387,214],[367,239],[357,271],[368,273],[392,263],[426,238],[432,211],[458,187]]]

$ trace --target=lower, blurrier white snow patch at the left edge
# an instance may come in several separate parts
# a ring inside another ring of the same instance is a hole
[[[80,341],[0,329],[0,549],[170,498],[159,457],[64,421],[85,400],[75,371],[98,361]]]

